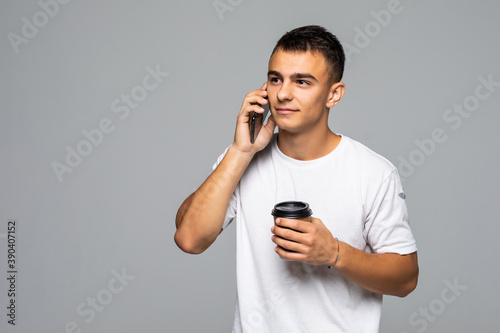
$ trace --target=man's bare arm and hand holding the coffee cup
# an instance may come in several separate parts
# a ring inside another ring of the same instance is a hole
[[[417,253],[366,253],[344,242],[337,243],[320,219],[312,223],[279,219],[272,228],[275,250],[283,258],[312,265],[333,265],[361,287],[386,295],[404,297],[417,286]],[[291,252],[294,251],[294,252]],[[326,269],[326,267],[325,267]]]

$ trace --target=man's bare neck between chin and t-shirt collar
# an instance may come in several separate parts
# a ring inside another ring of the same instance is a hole
[[[329,128],[315,133],[290,133],[280,130],[278,148],[288,157],[300,161],[310,161],[331,153],[339,145],[340,135]]]

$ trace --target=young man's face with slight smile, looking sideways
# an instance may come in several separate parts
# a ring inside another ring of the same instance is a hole
[[[321,53],[278,50],[269,60],[268,99],[280,130],[305,133],[328,126],[330,88]]]

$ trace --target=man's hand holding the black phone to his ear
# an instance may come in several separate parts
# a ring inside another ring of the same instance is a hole
[[[233,142],[233,148],[236,148],[241,153],[251,155],[257,153],[269,144],[273,136],[276,123],[272,115],[269,117],[266,125],[262,124],[264,119],[261,116],[261,121],[257,121],[255,124],[255,142],[253,144],[250,142],[250,121],[252,115],[254,112],[262,115],[265,110],[261,105],[269,103],[266,99],[266,88],[267,82],[260,89],[248,93],[241,105],[241,110],[236,121],[236,133]]]

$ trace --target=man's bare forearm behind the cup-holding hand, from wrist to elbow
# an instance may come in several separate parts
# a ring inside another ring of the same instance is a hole
[[[417,286],[417,253],[366,253],[341,242],[335,265],[343,276],[370,291],[405,297]]]

